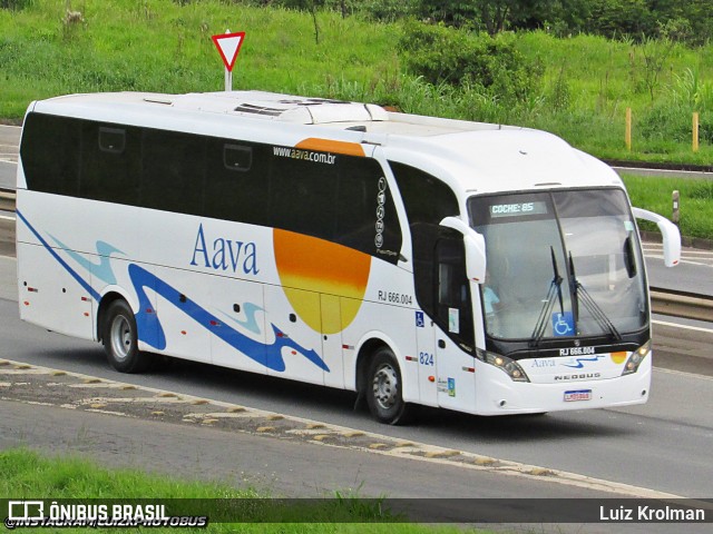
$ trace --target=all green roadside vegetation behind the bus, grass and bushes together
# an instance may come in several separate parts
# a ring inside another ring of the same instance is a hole
[[[222,90],[223,66],[211,36],[231,29],[246,32],[235,89],[521,125],[604,159],[710,167],[713,11],[706,6],[707,0],[0,0],[0,118],[19,121],[31,100],[62,93]],[[631,151],[626,108],[633,116]],[[635,204],[670,211],[671,184],[627,182]],[[703,186],[675,186],[685,209],[684,234],[713,237],[711,217],[697,208],[687,211],[710,204],[696,189]],[[653,198],[654,190],[662,196]]]

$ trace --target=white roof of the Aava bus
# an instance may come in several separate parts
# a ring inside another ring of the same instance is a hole
[[[548,187],[621,187],[608,166],[550,134],[387,111],[372,103],[264,91],[118,92],[52,98],[37,102],[36,110],[283,146],[295,146],[305,138],[356,142],[370,149],[380,146],[388,159],[431,172],[463,196]],[[275,122],[281,123],[277,130]]]

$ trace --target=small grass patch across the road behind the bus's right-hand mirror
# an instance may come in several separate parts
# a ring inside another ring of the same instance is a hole
[[[687,178],[622,177],[632,204],[671,219],[672,192],[680,191],[680,229],[687,237],[713,238],[713,181]],[[643,225],[653,229],[653,225]]]

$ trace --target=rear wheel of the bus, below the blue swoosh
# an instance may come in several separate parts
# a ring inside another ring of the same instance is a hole
[[[109,365],[120,373],[141,373],[150,363],[138,349],[134,312],[126,300],[115,300],[104,315],[101,342]]]

